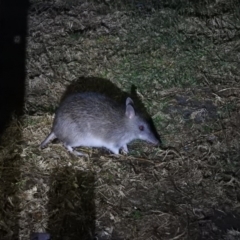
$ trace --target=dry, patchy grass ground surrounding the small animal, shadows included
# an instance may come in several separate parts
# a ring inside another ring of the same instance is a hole
[[[0,239],[240,239],[240,8],[204,4],[32,2],[25,114],[0,146]],[[41,150],[61,99],[85,91],[132,96],[163,145]]]

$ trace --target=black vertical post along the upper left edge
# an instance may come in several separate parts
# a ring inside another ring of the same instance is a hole
[[[0,1],[0,135],[11,114],[22,114],[28,0]]]

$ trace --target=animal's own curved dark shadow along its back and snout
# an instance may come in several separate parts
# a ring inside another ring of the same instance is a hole
[[[130,90],[130,89],[129,89]],[[97,77],[80,77],[76,81],[72,82],[63,94],[61,101],[63,101],[71,93],[81,93],[81,92],[98,92],[114,99],[120,104],[125,104],[126,98],[131,97],[134,101],[134,106],[136,109],[148,120],[152,131],[154,132],[156,138],[161,143],[160,135],[158,134],[151,116],[148,114],[144,104],[139,99],[136,93],[137,87],[132,85],[131,92],[122,91],[111,81],[104,78]]]

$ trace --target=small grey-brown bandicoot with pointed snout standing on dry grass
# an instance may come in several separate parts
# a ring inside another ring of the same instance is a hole
[[[126,99],[126,106],[121,106],[98,93],[72,94],[63,101],[56,112],[52,131],[41,147],[54,138],[62,141],[71,152],[73,147],[87,146],[105,147],[118,154],[121,148],[128,152],[127,144],[134,139],[159,143],[147,121],[136,114],[131,98]]]

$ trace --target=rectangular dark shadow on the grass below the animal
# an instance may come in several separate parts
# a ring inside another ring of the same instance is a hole
[[[53,172],[48,203],[48,232],[52,239],[94,239],[94,173],[71,167]]]

